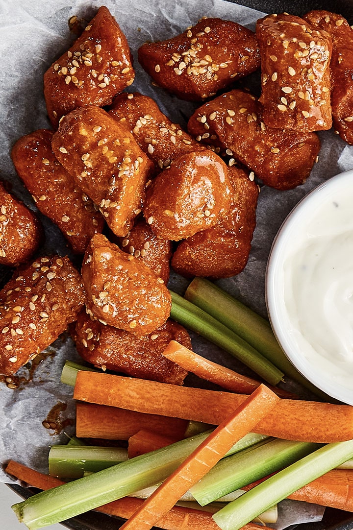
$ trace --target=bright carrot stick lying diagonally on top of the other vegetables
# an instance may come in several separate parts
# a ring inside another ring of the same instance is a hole
[[[201,480],[240,438],[273,409],[278,400],[278,396],[265,385],[256,388],[229,419],[222,422],[151,494],[122,526],[122,530],[150,530],[195,482]]]

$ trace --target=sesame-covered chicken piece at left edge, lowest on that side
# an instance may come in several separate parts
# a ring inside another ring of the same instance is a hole
[[[11,375],[74,322],[85,301],[82,279],[58,255],[21,267],[0,291],[0,373]]]

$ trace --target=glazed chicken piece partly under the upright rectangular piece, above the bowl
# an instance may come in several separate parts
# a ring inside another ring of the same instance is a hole
[[[188,130],[205,144],[230,150],[264,184],[279,190],[295,188],[308,178],[320,140],[315,133],[267,127],[262,112],[252,94],[232,90],[197,109]]]

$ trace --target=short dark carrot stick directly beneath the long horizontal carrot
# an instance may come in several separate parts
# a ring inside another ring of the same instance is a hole
[[[128,440],[140,429],[158,432],[176,440],[184,438],[188,422],[179,418],[143,414],[91,403],[76,403],[76,436]]]

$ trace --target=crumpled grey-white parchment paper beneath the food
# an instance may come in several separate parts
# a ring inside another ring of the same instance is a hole
[[[10,151],[21,136],[45,127],[49,128],[42,76],[53,60],[60,56],[75,39],[68,30],[67,21],[72,15],[89,21],[101,5],[97,0],[2,0],[0,1],[0,171],[1,178],[12,183],[16,195],[32,209],[36,209],[29,193],[23,188],[15,174]],[[126,34],[135,56],[135,82],[128,91],[140,91],[156,99],[160,108],[172,120],[185,126],[197,105],[183,102],[151,85],[150,78],[140,67],[136,50],[146,40],[160,40],[184,31],[201,16],[218,16],[234,20],[252,29],[263,13],[249,8],[223,2],[222,0],[107,0],[104,2],[116,17]],[[264,276],[266,260],[275,233],[289,211],[306,193],[343,170],[353,167],[353,147],[347,146],[333,134],[320,134],[322,149],[318,163],[304,185],[290,191],[277,191],[262,187],[257,207],[257,225],[252,251],[245,270],[237,277],[220,280],[218,283],[229,293],[262,315],[266,315],[264,300]],[[64,238],[59,230],[46,218],[40,216],[46,229],[46,243],[41,253],[59,252],[67,254]],[[70,253],[69,253],[70,254]],[[170,287],[183,293],[187,281],[171,275]],[[204,339],[192,335],[196,351],[217,360],[239,372],[249,374],[228,354]],[[54,349],[53,349],[54,348]],[[79,360],[72,341],[67,334],[59,338],[50,348],[49,355],[28,384],[20,384],[16,390],[0,384],[0,462],[14,458],[35,469],[47,472],[49,447],[65,443],[65,435],[53,435],[53,431],[42,426],[50,409],[62,401],[67,409],[62,419],[74,418],[71,399],[72,389],[59,383],[59,376],[66,359]],[[28,370],[21,374],[28,377]],[[193,379],[188,379],[194,384]],[[69,434],[73,428],[66,429]],[[0,481],[10,482],[10,477],[0,471]],[[318,517],[322,515],[318,509]],[[315,510],[312,511],[312,516]],[[303,519],[307,520],[307,519]],[[311,517],[311,520],[313,518]],[[300,522],[290,520],[290,523]]]

